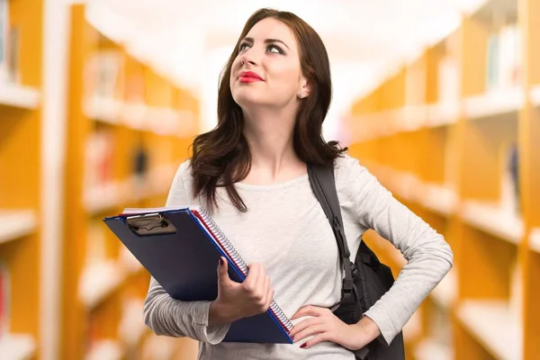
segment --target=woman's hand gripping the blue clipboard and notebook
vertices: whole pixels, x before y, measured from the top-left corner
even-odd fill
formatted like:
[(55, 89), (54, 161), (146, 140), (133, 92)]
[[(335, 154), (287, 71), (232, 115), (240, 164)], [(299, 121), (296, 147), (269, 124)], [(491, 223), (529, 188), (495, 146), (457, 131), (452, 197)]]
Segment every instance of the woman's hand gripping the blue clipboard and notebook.
[(248, 266), (243, 283), (232, 281), (227, 260), (220, 257), (218, 266), (218, 297), (211, 302), (209, 324), (230, 323), (265, 312), (274, 299), (274, 288), (259, 263)]

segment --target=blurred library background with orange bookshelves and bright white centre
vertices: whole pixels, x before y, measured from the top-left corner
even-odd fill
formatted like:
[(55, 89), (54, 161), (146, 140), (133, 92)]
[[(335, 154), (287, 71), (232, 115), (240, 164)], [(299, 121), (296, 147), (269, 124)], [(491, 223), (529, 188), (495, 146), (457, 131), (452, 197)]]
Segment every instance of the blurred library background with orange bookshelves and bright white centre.
[(148, 273), (102, 220), (165, 205), (260, 7), (320, 33), (326, 139), (455, 252), (407, 359), (540, 359), (540, 0), (0, 0), (0, 359), (196, 358), (145, 327)]

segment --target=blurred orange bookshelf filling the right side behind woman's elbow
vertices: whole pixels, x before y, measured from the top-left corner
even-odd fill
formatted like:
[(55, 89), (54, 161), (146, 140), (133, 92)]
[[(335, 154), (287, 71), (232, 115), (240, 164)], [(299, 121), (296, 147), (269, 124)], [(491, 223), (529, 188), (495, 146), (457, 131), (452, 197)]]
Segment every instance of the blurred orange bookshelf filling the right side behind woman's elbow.
[[(455, 252), (408, 358), (540, 354), (539, 37), (540, 3), (486, 1), (350, 109), (351, 153)], [(398, 274), (401, 254), (366, 241)]]

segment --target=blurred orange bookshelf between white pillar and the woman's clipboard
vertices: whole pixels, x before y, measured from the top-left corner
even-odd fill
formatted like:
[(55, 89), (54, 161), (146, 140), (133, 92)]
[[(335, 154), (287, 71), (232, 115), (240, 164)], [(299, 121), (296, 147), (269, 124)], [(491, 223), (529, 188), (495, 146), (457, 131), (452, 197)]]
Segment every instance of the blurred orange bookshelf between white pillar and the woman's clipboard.
[[(145, 357), (160, 350), (142, 318), (149, 275), (103, 218), (165, 205), (199, 104), (94, 27), (85, 4), (70, 9), (61, 357), (156, 358)], [(169, 347), (177, 356), (196, 345)]]

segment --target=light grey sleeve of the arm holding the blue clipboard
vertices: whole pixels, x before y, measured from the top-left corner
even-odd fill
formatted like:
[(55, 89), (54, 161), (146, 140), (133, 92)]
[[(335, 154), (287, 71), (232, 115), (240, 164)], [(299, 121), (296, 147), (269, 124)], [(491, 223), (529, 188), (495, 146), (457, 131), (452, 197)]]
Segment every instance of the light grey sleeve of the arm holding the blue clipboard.
[[(184, 186), (188, 175), (184, 162), (176, 172), (166, 200), (166, 206), (191, 204), (193, 199)], [(216, 264), (217, 266), (217, 264)], [(151, 278), (144, 302), (144, 320), (157, 335), (188, 337), (211, 344), (219, 343), (229, 329), (229, 324), (209, 325), (210, 302), (180, 302), (169, 296), (163, 287)]]

